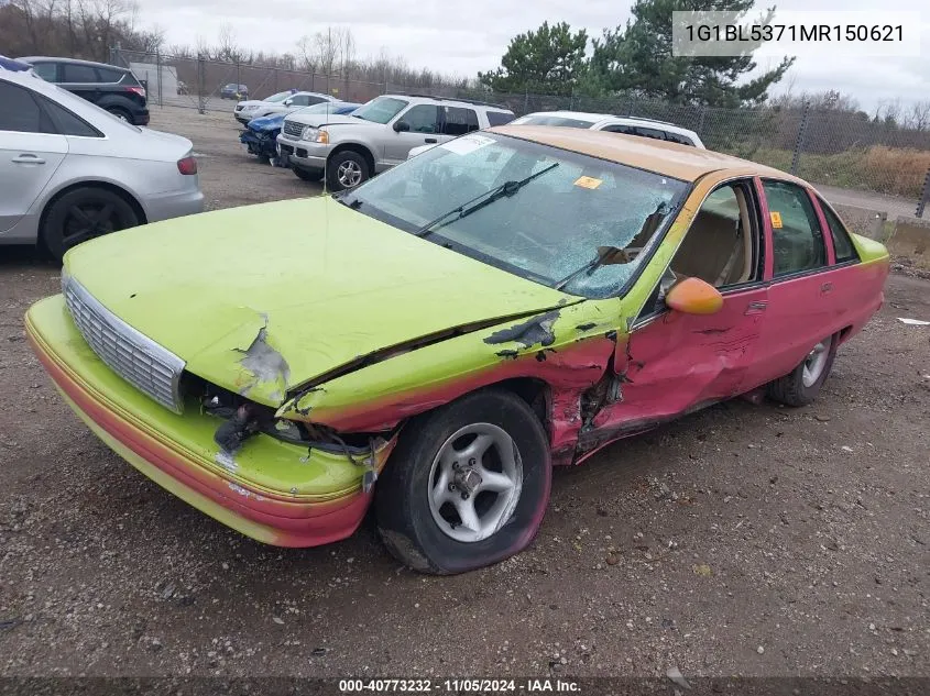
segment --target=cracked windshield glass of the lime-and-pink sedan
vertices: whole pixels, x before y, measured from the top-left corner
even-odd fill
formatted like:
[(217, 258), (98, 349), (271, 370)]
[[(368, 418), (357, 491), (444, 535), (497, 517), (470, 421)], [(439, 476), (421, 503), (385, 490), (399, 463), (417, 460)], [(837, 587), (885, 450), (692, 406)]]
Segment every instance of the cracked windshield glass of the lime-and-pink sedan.
[[(536, 239), (528, 239), (528, 242), (530, 245), (538, 243), (538, 241), (545, 243), (546, 234), (548, 234), (549, 253), (559, 257), (558, 259), (551, 261), (545, 258), (540, 261), (538, 254), (533, 254), (532, 246), (521, 245), (522, 241), (518, 237), (525, 237), (527, 230), (521, 229), (519, 225), (510, 227), (508, 223), (504, 223), (504, 227), (501, 229), (506, 229), (508, 234), (514, 236), (507, 237), (507, 241), (500, 244), (493, 237), (493, 231), (490, 234), (478, 233), (479, 235), (475, 236), (474, 230), (468, 227), (461, 228), (460, 225), (449, 228), (451, 233), (445, 230), (440, 232), (438, 229), (433, 229), (429, 234), (425, 235), (426, 241), (445, 248), (455, 250), (490, 266), (497, 267), (549, 288), (560, 289), (570, 295), (598, 299), (620, 297), (628, 292), (632, 285), (641, 276), (643, 269), (650, 263), (655, 250), (661, 243), (668, 229), (679, 214), (685, 200), (687, 200), (687, 197), (693, 189), (693, 185), (690, 181), (643, 167), (619, 163), (613, 159), (559, 148), (511, 134), (504, 135), (503, 133), (491, 132), (480, 134), (480, 137), (484, 140), (488, 140), (489, 136), (490, 140), (497, 141), (503, 145), (511, 145), (512, 142), (525, 143), (527, 146), (535, 148), (532, 155), (538, 157), (540, 164), (546, 164), (551, 162), (551, 159), (558, 159), (562, 164), (566, 164), (568, 166), (566, 173), (551, 183), (551, 186), (556, 187), (552, 189), (554, 191), (562, 191), (556, 194), (557, 196), (566, 194), (564, 188), (566, 180), (564, 179), (567, 179), (568, 183), (575, 183), (576, 186), (584, 187), (586, 181), (572, 181), (572, 178), (577, 176), (573, 174), (573, 170), (577, 170), (579, 167), (586, 169), (587, 167), (595, 166), (590, 161), (604, 163), (602, 172), (608, 177), (605, 179), (608, 186), (604, 190), (609, 191), (608, 196), (610, 198), (603, 199), (602, 203), (595, 203), (595, 207), (592, 209), (594, 212), (590, 218), (590, 229), (582, 233), (590, 239), (577, 237), (575, 241), (565, 244), (559, 242), (551, 243), (554, 239), (558, 239), (559, 230), (567, 230), (569, 228), (565, 227), (565, 222), (555, 220), (550, 227), (545, 228), (544, 225), (544, 228), (540, 228), (543, 229), (543, 234), (538, 236), (530, 234), (530, 236), (535, 236)], [(452, 142), (455, 143), (456, 141)], [(440, 146), (435, 150), (439, 151), (440, 148), (450, 150), (448, 146), (445, 148)], [(548, 155), (547, 151), (551, 151), (552, 154)], [(424, 153), (419, 157), (425, 155), (428, 155), (428, 153)], [(439, 154), (436, 158), (441, 156), (444, 155)], [(419, 157), (405, 163), (404, 166), (394, 172), (407, 170), (407, 168), (414, 166), (413, 163), (419, 159)], [(624, 174), (625, 172), (631, 174)], [(501, 173), (499, 172), (499, 174)], [(502, 174), (502, 176), (506, 175)], [(386, 181), (384, 175), (380, 178), (382, 183)], [(587, 176), (582, 174), (581, 179), (587, 179)], [(592, 188), (597, 188), (599, 184)], [(401, 181), (397, 181), (396, 185), (401, 185)], [(381, 192), (381, 188), (376, 189), (378, 192), (373, 192), (372, 196), (366, 197), (365, 189), (370, 187), (372, 187), (372, 184), (369, 183), (354, 189), (351, 194), (343, 194), (340, 197), (340, 202), (366, 217), (380, 220), (411, 234), (415, 234), (417, 231), (422, 231), (424, 227), (429, 227), (430, 222), (435, 222), (434, 218), (436, 216), (424, 219), (422, 209), (416, 207), (411, 208), (409, 206), (413, 203), (404, 203), (405, 197), (403, 195), (400, 199), (391, 200), (390, 205), (389, 199)], [(630, 195), (626, 192), (626, 189), (631, 187), (634, 198), (630, 198)], [(496, 189), (500, 189), (500, 186)], [(470, 206), (473, 207), (475, 205), (474, 201), (485, 198), (488, 195), (493, 194), (494, 190), (491, 189), (479, 196), (470, 197), (471, 200), (467, 200), (457, 208), (448, 210), (446, 214), (440, 216), (440, 219), (455, 216), (458, 209), (463, 210)], [(573, 190), (569, 187), (568, 195), (572, 196), (573, 194), (571, 191)], [(547, 191), (538, 191), (538, 194), (543, 196), (548, 195)], [(518, 196), (514, 197), (514, 199), (518, 198)], [(415, 200), (409, 197), (409, 194), (406, 199), (409, 201)], [(647, 236), (644, 235), (645, 225), (649, 218), (656, 217), (657, 208), (656, 202), (652, 202), (650, 207), (645, 209), (644, 201), (646, 199), (649, 201), (665, 200), (664, 214), (658, 220), (653, 221), (653, 227), (647, 233)], [(616, 219), (613, 216), (614, 208), (612, 206), (614, 201), (616, 203), (616, 210), (623, 213)], [(408, 207), (404, 208), (405, 205)], [(572, 205), (583, 207), (587, 203), (576, 199)], [(513, 210), (514, 212), (504, 211), (502, 214), (516, 214), (515, 209)], [(481, 227), (485, 223), (482, 219), (475, 224)], [(482, 234), (484, 235), (482, 236)], [(622, 254), (611, 253), (606, 255), (604, 261), (598, 263), (598, 266), (602, 266), (601, 268), (594, 268), (591, 274), (583, 273), (591, 264), (598, 262), (602, 250), (610, 246), (611, 242), (604, 242), (604, 237), (614, 240), (614, 244), (621, 247), (619, 252), (628, 250), (628, 261), (617, 261), (622, 257)], [(587, 246), (589, 241), (591, 245)], [(613, 269), (608, 270), (606, 268)], [(565, 280), (568, 276), (571, 276), (573, 279), (566, 284)]]

